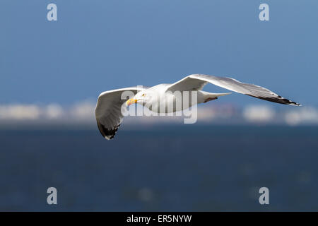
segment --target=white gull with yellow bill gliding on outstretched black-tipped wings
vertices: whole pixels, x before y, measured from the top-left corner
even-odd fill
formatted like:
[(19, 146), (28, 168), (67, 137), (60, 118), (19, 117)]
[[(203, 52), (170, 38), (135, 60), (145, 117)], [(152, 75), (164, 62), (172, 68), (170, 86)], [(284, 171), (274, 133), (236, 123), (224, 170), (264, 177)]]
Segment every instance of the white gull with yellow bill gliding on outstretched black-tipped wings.
[[(196, 103), (208, 102), (210, 100), (216, 100), (220, 96), (228, 95), (230, 93), (208, 93), (202, 91), (204, 85), (207, 83), (212, 83), (213, 85), (218, 85), (227, 90), (231, 90), (236, 93), (242, 93), (245, 95), (249, 95), (251, 97), (257, 97), (261, 100), (267, 100), (271, 102), (276, 102), (283, 105), (293, 105), (300, 106), (300, 104), (290, 101), (273, 93), (271, 90), (263, 88), (259, 85), (253, 85), (248, 83), (241, 83), (240, 81), (235, 80), (234, 78), (227, 77), (218, 77), (218, 76), (208, 76), (203, 74), (193, 74), (182, 78), (182, 80), (177, 81), (172, 84), (160, 84), (155, 85), (151, 88), (145, 87), (129, 87), (122, 88), (117, 90), (109, 90), (103, 92), (98, 97), (98, 102), (95, 109), (95, 117), (98, 124), (98, 129), (102, 136), (107, 140), (114, 138), (115, 133), (117, 132), (118, 127), (122, 123), (122, 119), (124, 115), (122, 114), (122, 106), (126, 104), (129, 106), (131, 104), (141, 104), (145, 107), (148, 107), (153, 112), (159, 112), (160, 103), (158, 100), (160, 98), (165, 99), (166, 97), (172, 101), (172, 105), (175, 106), (176, 102), (179, 98), (184, 98), (184, 95), (175, 95), (175, 92), (184, 93), (196, 91), (197, 92), (197, 100)], [(134, 93), (134, 97), (129, 100), (122, 99), (122, 93), (125, 91), (130, 91)], [(159, 97), (159, 99), (158, 99)], [(161, 99), (160, 99), (161, 100)], [(189, 97), (189, 105), (182, 105), (182, 109), (184, 110), (189, 107), (192, 107), (192, 100)], [(157, 107), (149, 107), (149, 106), (157, 106)], [(176, 112), (177, 109), (173, 107), (170, 110), (167, 110), (167, 107), (164, 108), (165, 113), (167, 112)]]

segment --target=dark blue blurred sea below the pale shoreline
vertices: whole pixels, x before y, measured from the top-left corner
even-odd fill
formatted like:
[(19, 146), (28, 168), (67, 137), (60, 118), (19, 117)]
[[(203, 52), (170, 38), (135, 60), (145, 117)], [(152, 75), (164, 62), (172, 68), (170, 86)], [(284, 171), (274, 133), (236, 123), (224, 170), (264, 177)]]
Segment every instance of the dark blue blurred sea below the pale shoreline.
[(318, 210), (317, 126), (136, 127), (2, 129), (0, 210)]

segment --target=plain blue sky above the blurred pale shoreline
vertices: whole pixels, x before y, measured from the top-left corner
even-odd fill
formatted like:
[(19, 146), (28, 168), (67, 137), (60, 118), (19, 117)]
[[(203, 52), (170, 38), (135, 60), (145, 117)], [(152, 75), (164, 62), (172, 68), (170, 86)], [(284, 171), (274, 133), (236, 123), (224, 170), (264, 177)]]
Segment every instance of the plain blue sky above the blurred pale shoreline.
[[(261, 3), (270, 21), (259, 20)], [(317, 106), (317, 9), (310, 0), (1, 0), (0, 103), (67, 105), (206, 73)]]

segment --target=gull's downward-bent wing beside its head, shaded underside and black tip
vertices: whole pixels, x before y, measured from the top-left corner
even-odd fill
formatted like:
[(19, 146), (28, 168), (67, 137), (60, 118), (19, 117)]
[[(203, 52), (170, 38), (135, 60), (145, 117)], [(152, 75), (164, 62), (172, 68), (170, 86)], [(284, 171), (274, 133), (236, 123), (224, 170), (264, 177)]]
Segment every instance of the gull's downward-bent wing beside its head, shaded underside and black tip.
[[(95, 117), (98, 129), (103, 137), (107, 140), (114, 138), (118, 127), (122, 123), (122, 118), (124, 117), (122, 115), (122, 105), (126, 102), (126, 99), (122, 100), (122, 94), (125, 91), (130, 91), (131, 95), (136, 95), (136, 93), (144, 89), (141, 87), (129, 87), (100, 94), (95, 109)], [(129, 92), (126, 94), (129, 95)]]

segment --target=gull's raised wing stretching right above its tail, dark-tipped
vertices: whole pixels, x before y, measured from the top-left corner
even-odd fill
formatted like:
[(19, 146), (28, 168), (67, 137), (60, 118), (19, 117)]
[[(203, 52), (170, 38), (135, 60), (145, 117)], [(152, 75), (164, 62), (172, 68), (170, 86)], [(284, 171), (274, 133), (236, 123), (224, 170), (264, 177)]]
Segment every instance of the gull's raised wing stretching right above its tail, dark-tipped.
[(249, 95), (251, 97), (257, 97), (261, 100), (268, 100), (271, 102), (280, 103), (283, 105), (295, 105), (300, 106), (300, 104), (287, 100), (271, 90), (268, 90), (259, 85), (253, 85), (248, 83), (241, 83), (234, 78), (217, 77), (217, 76), (207, 76), (203, 74), (193, 74), (183, 78), (177, 83), (173, 83), (167, 88), (167, 91), (175, 92), (176, 90), (201, 90), (206, 83), (212, 83), (213, 85), (218, 85), (227, 90), (232, 90), (237, 93), (242, 93)]

